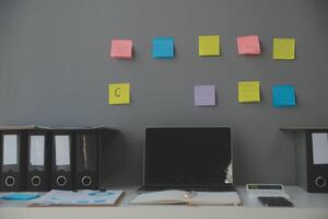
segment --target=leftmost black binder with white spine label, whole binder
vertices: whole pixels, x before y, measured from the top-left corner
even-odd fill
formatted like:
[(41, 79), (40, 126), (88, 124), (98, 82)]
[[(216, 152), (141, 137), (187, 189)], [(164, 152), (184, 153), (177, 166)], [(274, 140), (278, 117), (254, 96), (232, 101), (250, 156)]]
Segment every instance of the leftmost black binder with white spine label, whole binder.
[(0, 189), (17, 192), (25, 189), (26, 135), (21, 130), (1, 131)]

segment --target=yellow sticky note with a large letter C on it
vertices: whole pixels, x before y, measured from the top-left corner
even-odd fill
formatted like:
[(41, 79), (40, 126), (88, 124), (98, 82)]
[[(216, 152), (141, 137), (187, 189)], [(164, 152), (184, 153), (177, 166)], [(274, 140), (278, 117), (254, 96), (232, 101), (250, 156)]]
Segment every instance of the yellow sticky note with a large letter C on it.
[(109, 105), (130, 104), (130, 83), (108, 84)]

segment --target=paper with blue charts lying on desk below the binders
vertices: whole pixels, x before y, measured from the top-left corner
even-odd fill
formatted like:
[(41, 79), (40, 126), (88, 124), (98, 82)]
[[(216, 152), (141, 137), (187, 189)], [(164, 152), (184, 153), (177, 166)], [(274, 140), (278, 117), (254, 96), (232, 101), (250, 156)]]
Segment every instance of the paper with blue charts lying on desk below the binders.
[(50, 191), (31, 203), (33, 206), (112, 206), (122, 194), (124, 191)]

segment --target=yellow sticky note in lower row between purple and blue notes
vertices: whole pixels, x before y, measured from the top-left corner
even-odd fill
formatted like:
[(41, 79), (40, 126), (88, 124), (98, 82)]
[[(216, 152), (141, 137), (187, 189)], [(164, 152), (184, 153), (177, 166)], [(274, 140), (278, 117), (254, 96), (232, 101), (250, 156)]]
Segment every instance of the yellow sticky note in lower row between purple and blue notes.
[(238, 102), (239, 103), (260, 102), (259, 81), (239, 81)]

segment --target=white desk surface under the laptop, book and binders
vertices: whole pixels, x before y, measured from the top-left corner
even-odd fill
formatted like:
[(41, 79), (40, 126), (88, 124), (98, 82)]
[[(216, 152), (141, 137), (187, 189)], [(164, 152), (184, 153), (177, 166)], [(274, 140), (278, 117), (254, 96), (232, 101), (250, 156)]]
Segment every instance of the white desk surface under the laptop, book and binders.
[(288, 186), (293, 208), (262, 207), (237, 187), (243, 206), (131, 206), (134, 189), (127, 189), (118, 207), (26, 207), (26, 203), (0, 201), (0, 219), (328, 219), (328, 194), (308, 194)]

